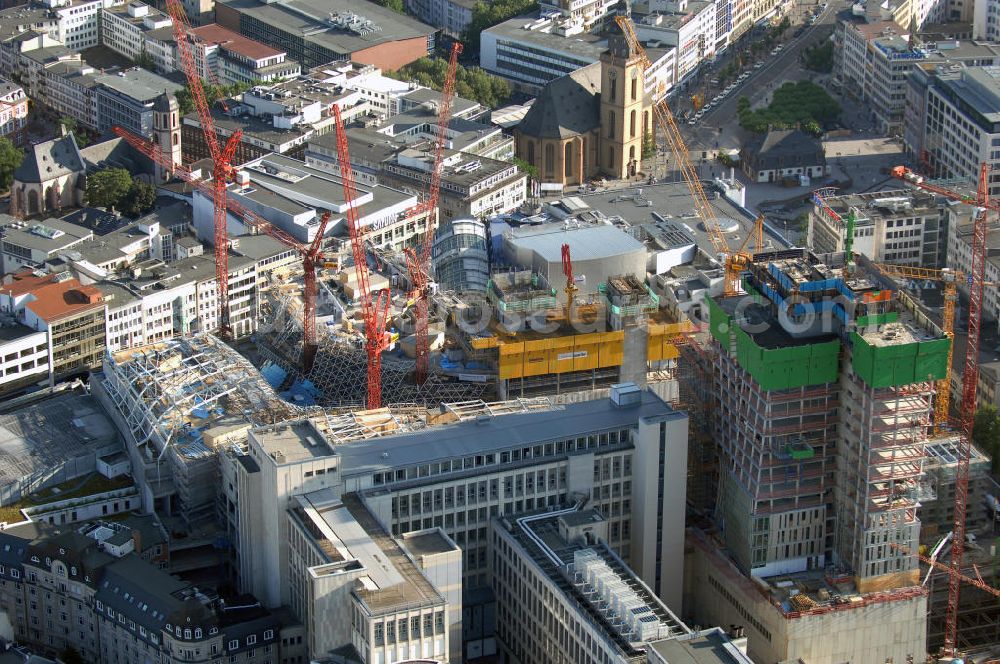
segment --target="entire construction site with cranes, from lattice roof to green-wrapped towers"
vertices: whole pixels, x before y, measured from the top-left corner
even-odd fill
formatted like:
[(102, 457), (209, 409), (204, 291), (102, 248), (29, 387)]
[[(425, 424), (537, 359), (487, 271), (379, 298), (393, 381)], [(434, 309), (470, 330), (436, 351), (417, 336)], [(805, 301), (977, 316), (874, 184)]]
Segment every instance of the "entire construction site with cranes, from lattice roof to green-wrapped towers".
[[(630, 19), (616, 21), (629, 57), (649, 67)], [(200, 91), (193, 56), (178, 34), (185, 73)], [(832, 232), (843, 232), (837, 244), (843, 251), (817, 255), (766, 245), (762, 218), (744, 229), (706, 194), (660, 102), (653, 105), (656, 126), (683, 176), (683, 211), (646, 210), (625, 219), (578, 197), (533, 205), (495, 229), (477, 231), (485, 237), (468, 243), (476, 254), (467, 267), (454, 262), (464, 241), (456, 240), (453, 223), (443, 234), (451, 243), (449, 270), (469, 275), (453, 279), (466, 286), (443, 289), (435, 281), (433, 250), (460, 52), (456, 43), (438, 105), (427, 191), (388, 222), (409, 224), (406, 247), (379, 246), (372, 222), (362, 223), (337, 105), (344, 205), (340, 218), (315, 210), (315, 219), (307, 220), (315, 230), (307, 232), (308, 242), (229, 195), (247, 178), (230, 163), (229, 146), (219, 144), (203, 94), (195, 98), (214, 162), (211, 181), (164, 161), (143, 139), (125, 136), (214, 203), (219, 275), (218, 337), (200, 334), (108, 354), (95, 381), (95, 396), (128, 432), (146, 509), (165, 515), (169, 529), (184, 533), (192, 548), (210, 544), (204, 524), (218, 517), (220, 452), (242, 444), (253, 427), (318, 415), (333, 439), (367, 437), (381, 435), (383, 424), (398, 424), (400, 413), (419, 421), (436, 409), (463, 419), (455, 411), (462, 404), (478, 413), (489, 401), (510, 400), (518, 408), (534, 407), (535, 399), (583, 402), (607, 397), (612, 385), (634, 383), (691, 413), (686, 619), (742, 630), (750, 656), (768, 662), (919, 662), (930, 647), (940, 646), (950, 658), (981, 639), (995, 640), (1000, 621), (985, 608), (996, 591), (987, 590), (973, 563), (985, 559), (963, 559), (966, 548), (976, 548), (966, 546), (973, 541), (966, 517), (975, 495), (975, 381), (963, 385), (960, 417), (951, 424), (957, 275), (936, 271), (952, 284), (938, 322), (894, 281), (906, 274), (854, 255), (853, 214), (830, 217), (837, 227)], [(988, 205), (982, 182), (973, 198), (905, 169), (894, 175), (936, 195), (997, 209)], [(302, 180), (289, 176), (287, 189)], [(650, 203), (641, 189), (615, 198), (616, 204), (630, 200), (637, 208)], [(231, 337), (223, 306), (230, 216), (302, 257), (301, 272), (261, 288), (260, 324), (243, 355), (224, 341)], [(684, 219), (704, 229), (710, 246), (698, 246)], [(476, 224), (462, 226), (471, 231)], [(334, 228), (347, 237), (327, 233)], [(966, 375), (977, 372), (985, 255), (979, 232), (968, 275)], [(649, 285), (675, 267), (687, 271), (674, 277), (694, 283), (695, 257), (707, 268), (691, 313), (707, 311), (707, 333)], [(931, 502), (932, 493), (939, 501), (933, 539), (921, 528), (921, 500)], [(945, 496), (953, 497), (950, 511), (942, 509)], [(938, 563), (945, 554), (949, 562)], [(922, 561), (944, 571), (925, 575)], [(979, 615), (985, 617), (973, 624)]]

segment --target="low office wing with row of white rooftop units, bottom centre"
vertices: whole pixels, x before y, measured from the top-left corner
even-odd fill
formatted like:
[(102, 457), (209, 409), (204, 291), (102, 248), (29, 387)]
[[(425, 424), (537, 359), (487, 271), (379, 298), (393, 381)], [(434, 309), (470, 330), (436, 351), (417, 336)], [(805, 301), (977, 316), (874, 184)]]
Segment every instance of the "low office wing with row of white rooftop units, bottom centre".
[(497, 638), (506, 657), (749, 664), (721, 630), (698, 633), (681, 622), (607, 538), (607, 520), (580, 504), (493, 520)]

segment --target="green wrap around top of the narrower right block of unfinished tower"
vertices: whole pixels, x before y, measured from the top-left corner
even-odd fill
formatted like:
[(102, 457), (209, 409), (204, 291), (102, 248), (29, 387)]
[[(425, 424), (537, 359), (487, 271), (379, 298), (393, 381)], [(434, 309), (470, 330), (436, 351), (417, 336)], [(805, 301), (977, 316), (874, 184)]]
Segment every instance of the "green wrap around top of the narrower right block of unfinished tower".
[(909, 385), (928, 378), (941, 380), (947, 372), (949, 339), (872, 346), (857, 332), (851, 332), (851, 343), (854, 373), (872, 387)]

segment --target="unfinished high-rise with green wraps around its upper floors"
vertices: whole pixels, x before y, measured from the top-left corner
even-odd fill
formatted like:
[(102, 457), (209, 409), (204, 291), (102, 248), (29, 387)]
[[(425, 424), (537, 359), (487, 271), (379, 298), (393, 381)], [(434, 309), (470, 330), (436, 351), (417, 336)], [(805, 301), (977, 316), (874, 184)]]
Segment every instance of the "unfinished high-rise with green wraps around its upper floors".
[[(950, 341), (865, 259), (849, 268), (842, 254), (756, 254), (745, 294), (709, 302), (720, 454), (710, 560), (727, 562), (704, 570), (696, 604), (745, 625), (755, 660), (903, 662), (925, 652), (917, 509)], [(734, 573), (782, 619), (736, 620), (753, 601), (720, 590)], [(863, 610), (844, 612), (854, 605)], [(822, 615), (854, 635), (834, 638)]]

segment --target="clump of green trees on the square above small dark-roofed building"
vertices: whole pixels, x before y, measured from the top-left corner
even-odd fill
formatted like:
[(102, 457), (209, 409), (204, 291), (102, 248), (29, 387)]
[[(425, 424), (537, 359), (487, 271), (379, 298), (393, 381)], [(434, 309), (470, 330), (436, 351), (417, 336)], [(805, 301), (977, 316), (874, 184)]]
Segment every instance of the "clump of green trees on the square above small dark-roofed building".
[(819, 136), (824, 126), (840, 117), (840, 104), (815, 83), (799, 81), (782, 85), (774, 91), (771, 103), (757, 110), (750, 108), (747, 97), (740, 97), (736, 113), (740, 126), (755, 134), (769, 129), (799, 128)]

